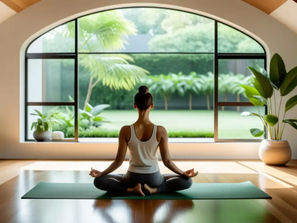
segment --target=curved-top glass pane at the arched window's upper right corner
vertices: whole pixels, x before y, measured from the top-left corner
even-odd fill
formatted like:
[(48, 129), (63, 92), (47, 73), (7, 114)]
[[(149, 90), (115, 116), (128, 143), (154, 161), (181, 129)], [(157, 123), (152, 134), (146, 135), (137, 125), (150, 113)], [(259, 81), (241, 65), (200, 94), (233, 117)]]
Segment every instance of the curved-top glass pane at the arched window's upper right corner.
[(219, 53), (265, 53), (262, 46), (248, 35), (218, 23)]

